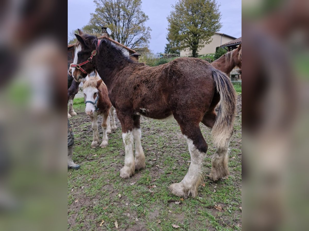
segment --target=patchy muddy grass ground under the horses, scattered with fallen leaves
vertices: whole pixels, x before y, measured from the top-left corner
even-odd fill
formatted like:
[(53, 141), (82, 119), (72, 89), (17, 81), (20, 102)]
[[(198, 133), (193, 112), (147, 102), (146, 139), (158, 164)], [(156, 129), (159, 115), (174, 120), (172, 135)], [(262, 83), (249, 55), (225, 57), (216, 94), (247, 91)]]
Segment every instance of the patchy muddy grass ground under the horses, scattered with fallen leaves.
[(174, 230), (173, 224), (180, 226), (177, 230), (241, 229), (241, 95), (230, 144), (231, 175), (215, 183), (207, 177), (215, 147), (210, 129), (201, 124), (208, 143), (205, 182), (196, 198), (183, 201), (168, 190), (170, 184), (183, 179), (190, 161), (175, 120), (141, 120), (146, 168), (124, 180), (119, 176), (125, 155), (119, 120), (116, 132), (109, 135), (108, 147), (91, 149), (91, 121), (85, 115), (83, 98), (74, 99), (74, 110), (78, 115), (70, 119), (75, 134), (73, 160), (81, 168), (68, 170), (68, 230), (115, 230), (115, 221), (118, 230), (127, 231)]

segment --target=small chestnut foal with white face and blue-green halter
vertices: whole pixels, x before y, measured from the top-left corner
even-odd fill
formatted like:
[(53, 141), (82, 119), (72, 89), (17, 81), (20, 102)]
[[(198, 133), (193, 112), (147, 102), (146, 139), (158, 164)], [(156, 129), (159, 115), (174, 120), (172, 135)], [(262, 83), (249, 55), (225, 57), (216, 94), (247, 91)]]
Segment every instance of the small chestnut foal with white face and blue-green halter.
[[(102, 115), (103, 119), (101, 124), (103, 139), (100, 147), (105, 148), (108, 145), (107, 134), (112, 133), (112, 130), (116, 130), (117, 128), (115, 123), (115, 108), (108, 99), (107, 87), (102, 79), (90, 77), (83, 84), (83, 93), (86, 103), (85, 112), (91, 118), (91, 127), (93, 131), (91, 148), (98, 147), (100, 143), (98, 132), (98, 115)], [(110, 124), (109, 111), (111, 111), (112, 115), (112, 127)]]

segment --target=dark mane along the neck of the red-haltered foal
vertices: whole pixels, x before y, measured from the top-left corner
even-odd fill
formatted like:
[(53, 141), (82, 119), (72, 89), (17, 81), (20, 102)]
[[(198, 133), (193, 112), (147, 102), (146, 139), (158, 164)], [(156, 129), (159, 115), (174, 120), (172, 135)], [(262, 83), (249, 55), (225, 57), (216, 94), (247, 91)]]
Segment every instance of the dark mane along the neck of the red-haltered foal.
[[(97, 46), (97, 44), (98, 44), (98, 37), (97, 36), (89, 35), (89, 34), (83, 34), (82, 36), (85, 39), (85, 41), (89, 40), (89, 41), (91, 41), (92, 45)], [(111, 48), (110, 51), (112, 51), (113, 56), (115, 56), (115, 57), (121, 56), (126, 61), (128, 61), (130, 63), (135, 63), (132, 59), (130, 59), (127, 55), (124, 54), (124, 51), (120, 47), (117, 47), (114, 43), (112, 43), (107, 38), (101, 39), (101, 43), (98, 47), (98, 54), (100, 52), (101, 46), (103, 46), (102, 45), (103, 43), (105, 43), (108, 48)]]

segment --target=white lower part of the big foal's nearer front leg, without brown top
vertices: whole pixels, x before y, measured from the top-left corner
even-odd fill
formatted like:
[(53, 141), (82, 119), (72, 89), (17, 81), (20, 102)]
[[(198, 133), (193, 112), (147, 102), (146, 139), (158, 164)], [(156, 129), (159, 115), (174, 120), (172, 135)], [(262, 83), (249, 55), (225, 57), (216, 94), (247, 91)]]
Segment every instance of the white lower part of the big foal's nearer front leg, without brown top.
[(129, 178), (135, 173), (132, 132), (122, 133), (122, 139), (125, 145), (125, 166), (120, 170), (120, 177)]

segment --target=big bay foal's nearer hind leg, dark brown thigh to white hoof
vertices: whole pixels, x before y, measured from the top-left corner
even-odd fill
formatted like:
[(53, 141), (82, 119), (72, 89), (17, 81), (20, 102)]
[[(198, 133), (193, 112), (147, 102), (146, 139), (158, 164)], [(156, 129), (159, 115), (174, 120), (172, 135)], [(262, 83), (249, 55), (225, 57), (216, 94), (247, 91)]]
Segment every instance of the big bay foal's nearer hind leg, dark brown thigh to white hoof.
[(174, 117), (180, 125), (181, 132), (187, 140), (191, 155), (191, 163), (184, 179), (180, 183), (171, 184), (169, 188), (171, 192), (178, 197), (196, 197), (198, 186), (204, 178), (202, 164), (208, 146), (203, 138), (198, 123), (189, 124), (188, 121), (190, 120), (184, 122), (179, 121), (178, 116), (174, 115)]

